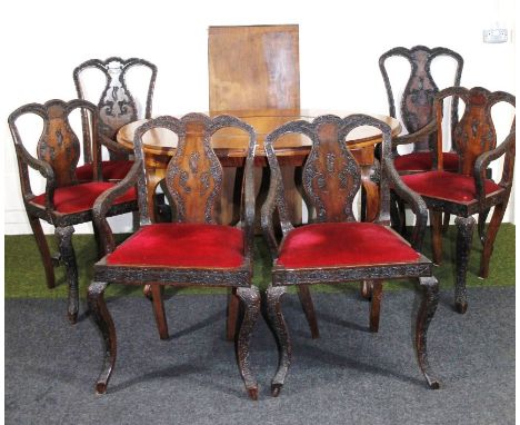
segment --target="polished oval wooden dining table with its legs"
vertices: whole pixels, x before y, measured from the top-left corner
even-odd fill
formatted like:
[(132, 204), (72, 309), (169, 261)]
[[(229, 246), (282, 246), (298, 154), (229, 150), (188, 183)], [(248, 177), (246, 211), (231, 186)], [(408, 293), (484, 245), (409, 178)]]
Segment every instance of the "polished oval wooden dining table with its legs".
[[(263, 141), (266, 137), (279, 126), (292, 120), (312, 121), (321, 115), (336, 115), (341, 118), (352, 115), (352, 111), (341, 110), (323, 110), (323, 109), (261, 109), (261, 110), (222, 110), (208, 112), (210, 117), (219, 115), (231, 115), (250, 123), (257, 132), (257, 149), (254, 155), (256, 167), (268, 167)], [(399, 135), (401, 125), (396, 118), (384, 115), (372, 115), (372, 117), (388, 123), (391, 128), (392, 136)], [(128, 149), (133, 150), (133, 137), (137, 128), (147, 120), (141, 119), (123, 126), (117, 135), (117, 141)], [(202, 137), (201, 134), (188, 131), (189, 137)], [(217, 131), (212, 136), (212, 147), (219, 157), (222, 167), (231, 167), (240, 169), (246, 160), (248, 136), (243, 130), (226, 128)], [(381, 142), (381, 132), (374, 127), (358, 127), (347, 136), (347, 145), (361, 168), (361, 184), (367, 194), (366, 219), (372, 220), (376, 218), (379, 210), (379, 189), (378, 185), (372, 181), (374, 171), (374, 151), (376, 146)], [(292, 192), (289, 209), (293, 211), (294, 221), (301, 220), (301, 199), (302, 189), (294, 182), (294, 170), (304, 164), (307, 156), (310, 152), (312, 141), (302, 135), (284, 135), (274, 145), (277, 159), (282, 168), (282, 172), (287, 175), (284, 178), (286, 192)], [(168, 162), (176, 152), (177, 135), (164, 128), (154, 128), (147, 131), (142, 137), (142, 146), (144, 154), (144, 167), (147, 171), (147, 202), (151, 217), (156, 217), (154, 196), (157, 186), (164, 179)], [(260, 176), (261, 176), (260, 171)], [(263, 174), (266, 176), (266, 174)], [(261, 180), (261, 179), (259, 179)], [(266, 178), (263, 178), (266, 181)], [(297, 179), (298, 181), (298, 179)], [(228, 188), (226, 188), (228, 186)], [(264, 185), (257, 184), (257, 190), (262, 189)], [(233, 205), (237, 205), (237, 195), (232, 194), (233, 178), (224, 181), (222, 190), (221, 214), (226, 216), (223, 221), (232, 219), (236, 216)], [(257, 202), (260, 204), (260, 202)], [(261, 206), (261, 205), (260, 205)], [(237, 208), (236, 208), (237, 209)], [(157, 217), (156, 217), (157, 218)]]

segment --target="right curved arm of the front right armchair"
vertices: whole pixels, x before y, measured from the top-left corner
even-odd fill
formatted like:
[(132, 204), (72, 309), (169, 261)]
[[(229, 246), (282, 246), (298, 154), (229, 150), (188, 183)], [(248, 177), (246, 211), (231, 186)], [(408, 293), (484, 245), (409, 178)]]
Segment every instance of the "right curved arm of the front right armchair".
[(422, 240), (424, 238), (428, 221), (428, 207), (420, 195), (404, 185), (399, 172), (393, 166), (392, 159), (390, 157), (384, 157), (383, 161), (388, 172), (390, 187), (402, 200), (410, 205), (413, 214), (416, 215), (416, 226), (413, 226), (410, 243), (413, 249), (420, 251), (422, 249)]

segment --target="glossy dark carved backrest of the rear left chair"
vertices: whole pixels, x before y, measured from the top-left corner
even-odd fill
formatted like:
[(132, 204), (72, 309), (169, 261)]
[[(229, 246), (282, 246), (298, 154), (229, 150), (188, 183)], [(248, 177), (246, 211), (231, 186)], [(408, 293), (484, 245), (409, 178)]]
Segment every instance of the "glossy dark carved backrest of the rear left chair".
[[(150, 80), (148, 85), (148, 93), (144, 105), (144, 117), (151, 117), (153, 88), (156, 86), (157, 67), (144, 59), (130, 58), (121, 59), (117, 57), (108, 58), (107, 60), (90, 59), (79, 65), (73, 70), (72, 77), (74, 79), (76, 90), (80, 99), (84, 99), (84, 88), (81, 81), (81, 73), (89, 68), (100, 70), (106, 77), (106, 85), (98, 101), (100, 132), (111, 140), (116, 139), (118, 130), (139, 118), (138, 105), (131, 93), (126, 76), (127, 72), (133, 67), (146, 67), (150, 69)], [(88, 126), (83, 119), (83, 131), (88, 131)], [(88, 137), (86, 137), (88, 139)], [(86, 146), (84, 161), (90, 162), (89, 147)]]

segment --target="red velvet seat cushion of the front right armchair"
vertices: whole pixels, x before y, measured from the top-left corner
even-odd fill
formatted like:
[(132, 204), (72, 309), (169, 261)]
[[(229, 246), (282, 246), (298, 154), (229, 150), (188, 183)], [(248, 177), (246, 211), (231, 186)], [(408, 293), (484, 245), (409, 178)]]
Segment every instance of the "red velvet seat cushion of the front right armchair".
[(323, 223), (292, 230), (278, 264), (287, 268), (409, 263), (419, 258), (404, 240), (372, 223)]

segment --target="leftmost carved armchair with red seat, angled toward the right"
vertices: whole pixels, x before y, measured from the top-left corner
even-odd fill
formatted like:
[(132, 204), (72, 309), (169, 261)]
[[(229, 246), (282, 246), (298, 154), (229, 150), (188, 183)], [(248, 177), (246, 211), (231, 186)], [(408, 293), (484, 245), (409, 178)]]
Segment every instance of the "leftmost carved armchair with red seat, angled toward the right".
[[(91, 128), (87, 144), (92, 150), (92, 178), (79, 181), (77, 164), (80, 158), (80, 141), (69, 122), (69, 115), (81, 110), (89, 117)], [(37, 155), (28, 150), (22, 142), (17, 120), (21, 116), (36, 115), (43, 121), (43, 129), (37, 144)], [(78, 318), (78, 270), (72, 247), (73, 226), (92, 220), (92, 206), (96, 199), (114, 186), (101, 179), (101, 147), (98, 142), (98, 109), (86, 100), (49, 100), (47, 103), (29, 103), (14, 110), (8, 119), (17, 151), (20, 185), (23, 204), (29, 217), (32, 233), (46, 270), (47, 286), (53, 288), (54, 266), (62, 263), (69, 286), (68, 317), (73, 324)], [(29, 135), (27, 135), (29, 136)], [(46, 179), (43, 194), (34, 195), (31, 188), (29, 169), (38, 170)], [(114, 199), (107, 216), (129, 212), (137, 209), (137, 196), (129, 187)], [(50, 254), (40, 220), (56, 227), (59, 257)], [(94, 233), (97, 231), (94, 226)], [(100, 253), (102, 254), (102, 253)]]

